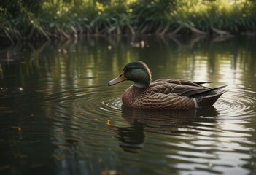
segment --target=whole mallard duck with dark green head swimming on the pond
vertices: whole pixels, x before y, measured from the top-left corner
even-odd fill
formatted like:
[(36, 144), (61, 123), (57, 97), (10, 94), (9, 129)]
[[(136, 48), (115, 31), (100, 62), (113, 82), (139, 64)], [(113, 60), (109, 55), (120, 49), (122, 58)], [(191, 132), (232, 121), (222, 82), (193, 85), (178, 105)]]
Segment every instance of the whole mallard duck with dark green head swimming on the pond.
[(139, 109), (195, 109), (212, 106), (228, 90), (207, 88), (202, 84), (182, 79), (158, 79), (152, 82), (150, 69), (142, 61), (125, 65), (122, 73), (109, 81), (109, 86), (125, 80), (133, 81), (122, 96), (125, 106)]

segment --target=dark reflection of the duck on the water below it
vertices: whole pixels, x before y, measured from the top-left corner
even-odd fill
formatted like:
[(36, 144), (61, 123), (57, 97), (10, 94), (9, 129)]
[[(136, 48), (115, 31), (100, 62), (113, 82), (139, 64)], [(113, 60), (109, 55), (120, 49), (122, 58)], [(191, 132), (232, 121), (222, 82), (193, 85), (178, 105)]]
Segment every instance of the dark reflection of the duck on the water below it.
[(122, 116), (128, 123), (131, 123), (131, 126), (117, 127), (117, 138), (123, 150), (139, 152), (144, 147), (144, 131), (165, 134), (195, 134), (198, 131), (191, 127), (203, 125), (202, 123), (215, 123), (217, 115), (213, 106), (187, 111), (145, 110), (122, 106)]

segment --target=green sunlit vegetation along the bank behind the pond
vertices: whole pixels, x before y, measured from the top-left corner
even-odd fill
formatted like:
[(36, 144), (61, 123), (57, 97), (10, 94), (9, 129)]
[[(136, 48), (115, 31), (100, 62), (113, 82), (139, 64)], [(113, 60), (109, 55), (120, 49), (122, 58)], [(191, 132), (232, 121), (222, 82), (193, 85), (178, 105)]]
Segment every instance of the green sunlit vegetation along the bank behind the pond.
[(0, 36), (255, 34), (255, 9), (254, 0), (1, 0)]

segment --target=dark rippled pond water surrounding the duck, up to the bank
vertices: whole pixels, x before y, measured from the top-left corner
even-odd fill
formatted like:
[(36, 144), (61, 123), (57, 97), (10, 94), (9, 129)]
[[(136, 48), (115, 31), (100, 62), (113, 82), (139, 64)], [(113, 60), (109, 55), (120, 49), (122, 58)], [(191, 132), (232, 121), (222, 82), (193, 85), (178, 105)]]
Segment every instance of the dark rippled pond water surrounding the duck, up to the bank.
[[(1, 44), (0, 174), (256, 174), (255, 45), (192, 36)], [(229, 91), (203, 109), (127, 109), (132, 82), (107, 82), (134, 60), (153, 80)]]

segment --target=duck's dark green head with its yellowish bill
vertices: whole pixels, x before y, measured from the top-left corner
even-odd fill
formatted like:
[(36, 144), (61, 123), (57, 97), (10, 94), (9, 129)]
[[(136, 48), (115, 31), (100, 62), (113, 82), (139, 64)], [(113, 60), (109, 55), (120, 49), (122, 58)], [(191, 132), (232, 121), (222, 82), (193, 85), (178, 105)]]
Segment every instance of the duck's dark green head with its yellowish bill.
[(109, 81), (109, 86), (125, 80), (133, 81), (134, 86), (138, 88), (147, 88), (151, 82), (150, 69), (142, 61), (132, 61), (125, 65), (118, 77)]

